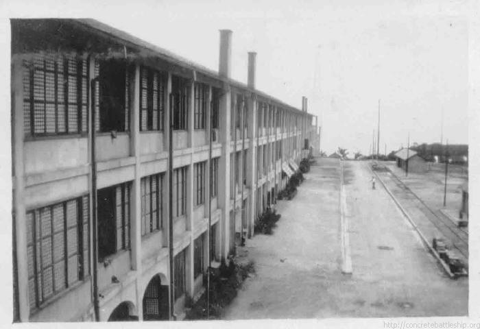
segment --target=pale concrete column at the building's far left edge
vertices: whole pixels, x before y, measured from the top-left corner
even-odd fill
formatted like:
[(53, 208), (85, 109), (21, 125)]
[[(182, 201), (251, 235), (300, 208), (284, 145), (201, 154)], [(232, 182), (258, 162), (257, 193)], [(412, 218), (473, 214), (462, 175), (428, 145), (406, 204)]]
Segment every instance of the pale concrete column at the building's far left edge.
[[(19, 313), (20, 321), (29, 321), (29, 288), (28, 288), (28, 265), (27, 265), (27, 222), (25, 220), (25, 204), (23, 195), (25, 189), (25, 167), (23, 164), (23, 143), (25, 132), (23, 130), (23, 65), (21, 58), (12, 58), (12, 129), (14, 132), (13, 147), (13, 207), (15, 219), (15, 242), (16, 245), (16, 273), (19, 289)], [(15, 292), (14, 292), (15, 293)]]

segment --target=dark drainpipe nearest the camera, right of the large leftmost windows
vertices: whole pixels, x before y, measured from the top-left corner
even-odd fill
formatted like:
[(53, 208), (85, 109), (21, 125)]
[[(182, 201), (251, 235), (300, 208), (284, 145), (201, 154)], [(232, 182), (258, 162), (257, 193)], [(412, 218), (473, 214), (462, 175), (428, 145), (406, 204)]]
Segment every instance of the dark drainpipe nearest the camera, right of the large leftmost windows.
[[(90, 62), (90, 61), (88, 61)], [(93, 233), (93, 310), (95, 313), (95, 321), (100, 321), (99, 312), (99, 296), (98, 296), (98, 224), (97, 224), (97, 161), (95, 160), (95, 86), (99, 82), (99, 77), (95, 77), (91, 80), (91, 162), (92, 162), (92, 233)]]

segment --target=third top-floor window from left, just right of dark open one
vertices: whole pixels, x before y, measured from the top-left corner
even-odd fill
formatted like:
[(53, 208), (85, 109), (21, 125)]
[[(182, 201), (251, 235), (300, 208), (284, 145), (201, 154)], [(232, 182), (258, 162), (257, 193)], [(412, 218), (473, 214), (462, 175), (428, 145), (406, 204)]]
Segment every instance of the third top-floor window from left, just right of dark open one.
[(140, 69), (140, 130), (163, 130), (165, 76), (141, 66)]

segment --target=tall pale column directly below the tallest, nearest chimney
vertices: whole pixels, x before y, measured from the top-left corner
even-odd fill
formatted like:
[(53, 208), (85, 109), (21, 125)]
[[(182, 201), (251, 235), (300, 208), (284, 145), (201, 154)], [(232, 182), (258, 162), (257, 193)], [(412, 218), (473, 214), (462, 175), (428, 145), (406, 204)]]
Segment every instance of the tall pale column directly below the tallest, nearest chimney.
[(219, 134), (221, 141), (221, 156), (218, 172), (218, 207), (221, 209), (219, 225), (221, 234), (221, 257), (228, 256), (230, 228), (230, 86), (225, 86), (219, 99)]

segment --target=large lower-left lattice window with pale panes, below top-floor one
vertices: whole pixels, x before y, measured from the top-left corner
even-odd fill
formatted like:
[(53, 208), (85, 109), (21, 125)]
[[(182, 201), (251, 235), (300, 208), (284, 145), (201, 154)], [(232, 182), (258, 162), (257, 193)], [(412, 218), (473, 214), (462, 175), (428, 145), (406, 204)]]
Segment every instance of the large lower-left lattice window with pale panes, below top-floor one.
[(30, 309), (90, 273), (88, 195), (27, 212)]

